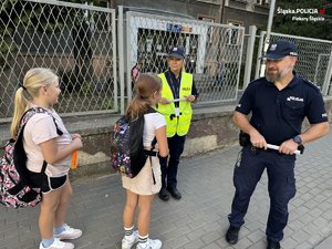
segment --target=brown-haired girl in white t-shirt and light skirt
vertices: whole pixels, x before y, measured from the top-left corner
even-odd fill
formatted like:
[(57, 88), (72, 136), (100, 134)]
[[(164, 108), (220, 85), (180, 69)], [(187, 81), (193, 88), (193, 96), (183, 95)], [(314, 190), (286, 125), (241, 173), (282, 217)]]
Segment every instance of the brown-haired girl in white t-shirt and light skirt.
[[(162, 157), (167, 157), (168, 145), (166, 137), (166, 121), (157, 112), (148, 113), (160, 100), (162, 81), (153, 74), (141, 74), (135, 84), (135, 96), (129, 103), (126, 115), (135, 121), (144, 115), (143, 144), (145, 149), (151, 149), (154, 137), (157, 139), (156, 152)], [(123, 214), (125, 236), (122, 249), (129, 249), (137, 243), (136, 249), (159, 249), (162, 241), (149, 239), (151, 206), (155, 194), (162, 187), (162, 172), (158, 156), (147, 159), (137, 176), (128, 178), (122, 176), (123, 187), (126, 189), (126, 204)], [(133, 162), (135, 164), (135, 162)], [(137, 228), (134, 231), (134, 215), (138, 207)]]

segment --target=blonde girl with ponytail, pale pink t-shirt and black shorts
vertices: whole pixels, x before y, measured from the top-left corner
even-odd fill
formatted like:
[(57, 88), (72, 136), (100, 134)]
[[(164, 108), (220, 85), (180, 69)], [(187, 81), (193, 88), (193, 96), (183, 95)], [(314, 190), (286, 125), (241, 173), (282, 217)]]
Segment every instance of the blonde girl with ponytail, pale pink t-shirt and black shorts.
[[(14, 138), (19, 131), (20, 120), (29, 108), (43, 108), (37, 112), (27, 123), (23, 131), (23, 146), (27, 154), (27, 168), (40, 173), (43, 162), (46, 169), (41, 181), (42, 201), (40, 205), (39, 229), (42, 240), (40, 249), (73, 249), (74, 245), (62, 239), (81, 237), (80, 229), (65, 224), (72, 187), (68, 173), (71, 166), (72, 153), (81, 148), (79, 134), (70, 134), (61, 117), (54, 111), (61, 93), (59, 77), (49, 69), (31, 69), (27, 72), (23, 84), (17, 90), (14, 113), (11, 124), (11, 136)], [(54, 125), (54, 122), (56, 125)], [(56, 126), (62, 132), (58, 135)], [(39, 178), (40, 180), (40, 178)]]

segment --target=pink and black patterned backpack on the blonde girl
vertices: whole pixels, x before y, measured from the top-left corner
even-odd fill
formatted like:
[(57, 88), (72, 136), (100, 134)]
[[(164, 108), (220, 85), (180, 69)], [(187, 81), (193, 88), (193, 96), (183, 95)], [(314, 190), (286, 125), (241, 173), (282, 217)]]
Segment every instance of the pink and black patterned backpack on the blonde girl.
[[(24, 127), (35, 113), (48, 113), (52, 116), (51, 113), (42, 107), (28, 110), (22, 115), (15, 139), (11, 138), (6, 143), (4, 155), (0, 158), (0, 203), (7, 207), (34, 207), (41, 201), (41, 186), (35, 183), (41, 183), (48, 163), (43, 162), (40, 173), (30, 172), (27, 168), (27, 154), (23, 147)], [(58, 135), (62, 135), (55, 121), (54, 124)], [(32, 176), (33, 183), (31, 180)]]

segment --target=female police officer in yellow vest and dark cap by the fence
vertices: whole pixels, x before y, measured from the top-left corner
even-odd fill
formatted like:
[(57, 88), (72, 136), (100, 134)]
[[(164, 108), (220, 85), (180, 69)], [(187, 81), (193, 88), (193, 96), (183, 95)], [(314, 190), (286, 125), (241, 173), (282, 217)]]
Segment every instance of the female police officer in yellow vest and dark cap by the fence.
[[(177, 168), (190, 127), (191, 102), (195, 102), (198, 96), (193, 74), (184, 72), (185, 51), (181, 48), (173, 48), (168, 54), (167, 63), (168, 70), (158, 74), (163, 81), (158, 111), (164, 115), (167, 123), (166, 133), (169, 148), (168, 165), (167, 157), (159, 157), (162, 189), (158, 196), (165, 201), (169, 199), (167, 190), (175, 199), (181, 198), (177, 189)], [(180, 101), (174, 102), (174, 100)]]

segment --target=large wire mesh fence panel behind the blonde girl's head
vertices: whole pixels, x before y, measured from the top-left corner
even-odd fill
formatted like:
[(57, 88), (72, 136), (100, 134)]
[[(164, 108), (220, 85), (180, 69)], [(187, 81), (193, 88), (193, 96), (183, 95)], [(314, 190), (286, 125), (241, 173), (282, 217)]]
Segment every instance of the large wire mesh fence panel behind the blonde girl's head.
[(77, 115), (117, 111), (115, 10), (61, 1), (4, 1), (0, 9), (0, 121), (31, 68), (61, 79), (56, 110)]

